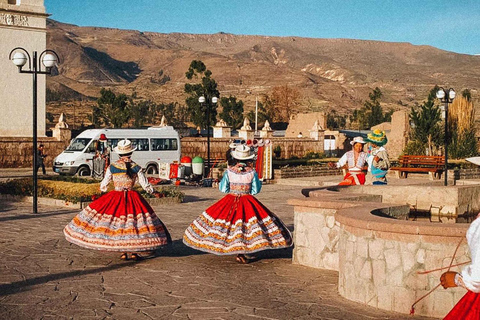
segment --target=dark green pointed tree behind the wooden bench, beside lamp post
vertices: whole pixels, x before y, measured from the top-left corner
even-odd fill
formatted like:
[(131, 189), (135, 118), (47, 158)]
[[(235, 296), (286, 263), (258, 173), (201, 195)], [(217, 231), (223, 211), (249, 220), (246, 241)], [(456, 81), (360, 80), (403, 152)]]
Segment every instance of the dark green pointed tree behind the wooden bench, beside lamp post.
[(440, 108), (435, 105), (438, 86), (435, 86), (428, 94), (427, 101), (419, 107), (412, 107), (410, 121), (412, 131), (410, 133), (409, 145), (405, 150), (406, 154), (429, 154), (442, 144), (443, 134), (441, 128)]

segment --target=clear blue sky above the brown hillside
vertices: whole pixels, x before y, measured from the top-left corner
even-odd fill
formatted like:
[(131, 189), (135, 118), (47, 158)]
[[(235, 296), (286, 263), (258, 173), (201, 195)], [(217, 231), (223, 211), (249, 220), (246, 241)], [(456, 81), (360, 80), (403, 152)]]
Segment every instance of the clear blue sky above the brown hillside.
[(480, 54), (479, 0), (45, 0), (79, 26), (410, 42)]

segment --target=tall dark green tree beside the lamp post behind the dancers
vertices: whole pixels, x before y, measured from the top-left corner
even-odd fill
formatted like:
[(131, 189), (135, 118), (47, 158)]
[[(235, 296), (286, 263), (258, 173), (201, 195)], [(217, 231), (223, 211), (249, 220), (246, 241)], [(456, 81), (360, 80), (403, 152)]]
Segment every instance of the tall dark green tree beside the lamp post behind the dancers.
[[(200, 60), (193, 60), (190, 63), (188, 71), (185, 73), (187, 79), (202, 76), (201, 83), (186, 83), (185, 93), (189, 96), (185, 99), (190, 118), (196, 126), (206, 128), (207, 123), (215, 123), (217, 119), (217, 105), (211, 102), (212, 97), (220, 98), (220, 92), (217, 90), (217, 83), (211, 77), (212, 72), (207, 69)], [(205, 103), (200, 104), (198, 98), (205, 97)], [(207, 122), (207, 111), (210, 112), (210, 119)]]

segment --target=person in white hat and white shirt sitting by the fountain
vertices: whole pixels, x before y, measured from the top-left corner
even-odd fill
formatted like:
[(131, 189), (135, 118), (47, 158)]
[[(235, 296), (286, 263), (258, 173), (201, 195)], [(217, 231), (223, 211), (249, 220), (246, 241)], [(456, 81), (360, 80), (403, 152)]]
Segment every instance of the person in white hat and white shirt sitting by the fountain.
[(363, 152), (363, 146), (365, 141), (362, 137), (355, 137), (350, 142), (352, 145), (352, 150), (346, 152), (338, 162), (330, 162), (328, 166), (330, 168), (342, 168), (347, 166), (348, 172), (343, 177), (343, 181), (340, 182), (339, 186), (352, 186), (365, 184), (365, 173), (366, 164), (367, 164), (367, 154)]

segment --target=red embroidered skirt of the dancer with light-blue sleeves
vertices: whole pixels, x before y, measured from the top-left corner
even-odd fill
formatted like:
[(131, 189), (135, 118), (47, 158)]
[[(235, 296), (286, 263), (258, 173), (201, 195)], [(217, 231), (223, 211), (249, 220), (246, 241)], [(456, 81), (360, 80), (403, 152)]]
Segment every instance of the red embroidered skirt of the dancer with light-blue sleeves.
[(283, 222), (251, 195), (227, 194), (194, 220), (183, 242), (217, 254), (245, 254), (292, 245)]

